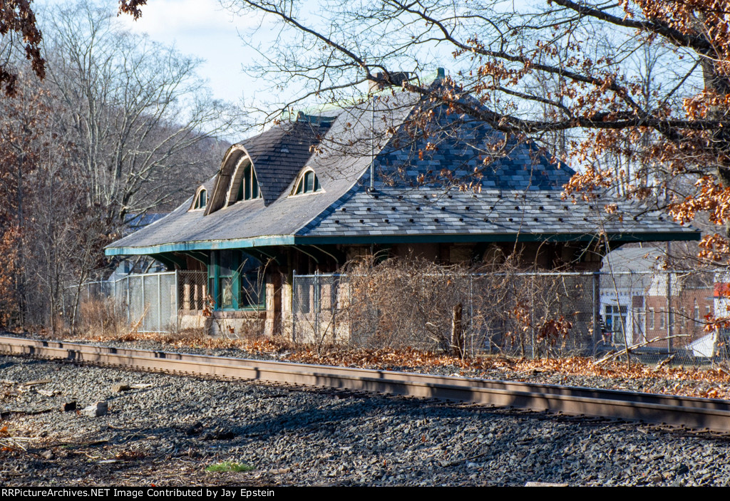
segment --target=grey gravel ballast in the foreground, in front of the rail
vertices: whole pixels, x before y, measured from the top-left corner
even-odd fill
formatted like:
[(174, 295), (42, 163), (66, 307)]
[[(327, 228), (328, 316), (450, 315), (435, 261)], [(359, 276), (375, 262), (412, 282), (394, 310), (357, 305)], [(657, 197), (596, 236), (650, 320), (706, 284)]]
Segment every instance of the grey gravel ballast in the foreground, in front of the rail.
[(4, 486), (730, 483), (726, 438), (636, 423), (4, 356), (0, 397)]

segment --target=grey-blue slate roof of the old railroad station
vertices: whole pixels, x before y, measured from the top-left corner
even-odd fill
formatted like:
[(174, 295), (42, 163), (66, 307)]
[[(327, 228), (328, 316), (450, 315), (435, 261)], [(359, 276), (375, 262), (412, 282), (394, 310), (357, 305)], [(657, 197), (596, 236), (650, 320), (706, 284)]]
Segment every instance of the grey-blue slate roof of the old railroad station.
[[(411, 129), (415, 106), (421, 106), (418, 96), (383, 93), (345, 107), (334, 122), (300, 116), (247, 139), (242, 144), (263, 198), (207, 215), (189, 211), (190, 199), (111, 244), (107, 254), (414, 238), (589, 240), (600, 232), (624, 241), (699, 238), (660, 214), (639, 215), (639, 206), (619, 203), (623, 219), (607, 214), (607, 195), (596, 203), (562, 201), (561, 187), (573, 171), (534, 144), (504, 141), (485, 123), (445, 109), (434, 109), (434, 127)], [(496, 158), (485, 156), (490, 147), (499, 150)], [(323, 190), (289, 196), (305, 166)], [(464, 183), (469, 190), (458, 190)]]

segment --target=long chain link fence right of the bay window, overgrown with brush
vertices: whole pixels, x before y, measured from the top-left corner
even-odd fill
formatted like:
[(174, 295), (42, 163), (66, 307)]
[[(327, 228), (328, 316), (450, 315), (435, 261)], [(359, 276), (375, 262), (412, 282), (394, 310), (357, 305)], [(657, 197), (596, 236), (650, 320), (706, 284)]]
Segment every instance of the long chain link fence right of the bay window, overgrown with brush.
[[(377, 269), (377, 268), (374, 268)], [(384, 273), (293, 277), (293, 340), (454, 354), (728, 358), (730, 276), (650, 273)], [(626, 355), (622, 355), (626, 356)]]

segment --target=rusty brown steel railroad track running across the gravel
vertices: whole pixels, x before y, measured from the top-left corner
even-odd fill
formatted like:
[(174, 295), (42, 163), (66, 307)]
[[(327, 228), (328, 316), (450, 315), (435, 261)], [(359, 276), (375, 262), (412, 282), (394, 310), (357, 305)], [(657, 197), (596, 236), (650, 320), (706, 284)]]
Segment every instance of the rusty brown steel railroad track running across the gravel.
[(329, 387), (730, 432), (730, 401), (158, 352), (0, 336), (0, 352), (166, 373)]

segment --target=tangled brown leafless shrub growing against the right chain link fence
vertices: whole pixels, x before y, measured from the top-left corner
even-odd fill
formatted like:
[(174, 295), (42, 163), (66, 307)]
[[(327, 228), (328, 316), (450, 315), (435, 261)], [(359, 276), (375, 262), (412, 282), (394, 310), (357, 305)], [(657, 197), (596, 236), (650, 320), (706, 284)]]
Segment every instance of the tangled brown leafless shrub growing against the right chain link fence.
[(590, 343), (590, 276), (526, 273), (515, 259), (479, 268), (376, 260), (347, 270), (354, 346), (549, 357)]

